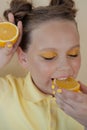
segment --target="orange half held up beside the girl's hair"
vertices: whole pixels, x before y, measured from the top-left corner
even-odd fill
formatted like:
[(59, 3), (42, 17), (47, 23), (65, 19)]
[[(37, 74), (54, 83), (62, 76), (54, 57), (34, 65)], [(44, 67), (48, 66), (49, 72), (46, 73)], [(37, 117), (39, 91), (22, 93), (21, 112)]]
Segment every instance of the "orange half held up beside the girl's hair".
[(10, 22), (0, 23), (0, 47), (5, 47), (7, 42), (15, 44), (19, 36), (17, 26)]

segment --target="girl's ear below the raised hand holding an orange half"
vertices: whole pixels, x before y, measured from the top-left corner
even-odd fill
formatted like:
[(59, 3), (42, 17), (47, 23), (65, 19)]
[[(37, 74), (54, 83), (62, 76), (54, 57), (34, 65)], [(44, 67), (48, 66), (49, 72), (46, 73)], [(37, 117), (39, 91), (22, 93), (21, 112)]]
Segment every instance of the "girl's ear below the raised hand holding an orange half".
[(27, 53), (25, 53), (20, 47), (17, 49), (17, 54), (18, 54), (18, 60), (20, 64), (23, 66), (23, 68), (28, 68), (29, 66), (29, 61), (27, 57)]

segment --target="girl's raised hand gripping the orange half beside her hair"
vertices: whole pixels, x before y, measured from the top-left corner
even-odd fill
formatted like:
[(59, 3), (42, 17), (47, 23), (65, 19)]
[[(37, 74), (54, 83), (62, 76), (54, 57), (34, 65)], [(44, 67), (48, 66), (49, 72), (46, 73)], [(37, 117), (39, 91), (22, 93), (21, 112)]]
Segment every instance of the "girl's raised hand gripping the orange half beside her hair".
[[(14, 16), (12, 13), (8, 14), (8, 19), (9, 19), (9, 22), (12, 22), (15, 24)], [(2, 21), (2, 20), (0, 19), (0, 21)], [(22, 28), (23, 28), (21, 21), (18, 22), (17, 27), (19, 29), (19, 38), (18, 38), (16, 44), (14, 44), (12, 46), (12, 44), (9, 42), (6, 44), (6, 46), (4, 48), (0, 47), (0, 69), (10, 62), (11, 58), (13, 57), (14, 53), (16, 52), (16, 50), (21, 42)]]

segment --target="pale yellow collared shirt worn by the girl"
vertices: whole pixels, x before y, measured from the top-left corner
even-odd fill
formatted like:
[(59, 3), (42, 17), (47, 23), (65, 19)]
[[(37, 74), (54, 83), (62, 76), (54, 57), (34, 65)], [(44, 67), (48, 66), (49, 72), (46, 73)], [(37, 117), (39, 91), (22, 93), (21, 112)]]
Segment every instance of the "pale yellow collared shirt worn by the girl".
[(41, 93), (30, 74), (0, 78), (0, 130), (84, 130), (50, 95)]

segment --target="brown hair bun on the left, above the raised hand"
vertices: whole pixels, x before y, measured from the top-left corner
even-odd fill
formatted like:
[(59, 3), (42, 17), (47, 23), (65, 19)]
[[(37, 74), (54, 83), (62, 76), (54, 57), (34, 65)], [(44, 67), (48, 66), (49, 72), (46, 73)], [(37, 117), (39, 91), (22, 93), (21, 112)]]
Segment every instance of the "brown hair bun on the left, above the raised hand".
[(5, 18), (8, 20), (8, 13), (12, 12), (15, 17), (15, 22), (23, 21), (24, 17), (32, 11), (32, 4), (27, 0), (12, 0), (10, 9), (4, 12)]

